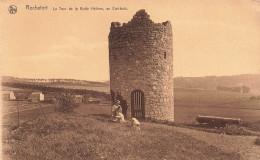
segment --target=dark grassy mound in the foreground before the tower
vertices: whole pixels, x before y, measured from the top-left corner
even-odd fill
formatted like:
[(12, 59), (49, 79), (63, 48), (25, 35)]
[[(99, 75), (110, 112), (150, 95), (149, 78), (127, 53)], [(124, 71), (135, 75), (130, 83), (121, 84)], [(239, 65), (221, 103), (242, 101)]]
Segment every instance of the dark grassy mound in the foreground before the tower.
[(52, 114), (3, 129), (10, 159), (240, 159), (171, 126), (144, 122), (135, 131), (100, 115)]

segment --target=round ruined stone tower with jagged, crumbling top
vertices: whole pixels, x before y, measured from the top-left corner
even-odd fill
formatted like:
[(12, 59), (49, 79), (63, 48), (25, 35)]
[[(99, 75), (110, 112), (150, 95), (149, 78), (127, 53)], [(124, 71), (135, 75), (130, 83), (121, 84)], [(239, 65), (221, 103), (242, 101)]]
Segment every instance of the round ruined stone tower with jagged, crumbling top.
[(127, 118), (174, 121), (172, 26), (154, 23), (145, 10), (112, 22), (109, 33), (112, 103)]

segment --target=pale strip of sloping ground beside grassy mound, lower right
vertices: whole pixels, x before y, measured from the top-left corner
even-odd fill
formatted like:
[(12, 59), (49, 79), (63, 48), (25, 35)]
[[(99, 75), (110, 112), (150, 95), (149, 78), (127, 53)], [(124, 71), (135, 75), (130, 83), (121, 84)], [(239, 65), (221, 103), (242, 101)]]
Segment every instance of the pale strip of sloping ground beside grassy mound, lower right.
[(188, 128), (175, 128), (179, 132), (218, 147), (223, 151), (237, 152), (244, 160), (260, 160), (260, 146), (254, 144), (256, 139), (254, 136), (230, 136)]

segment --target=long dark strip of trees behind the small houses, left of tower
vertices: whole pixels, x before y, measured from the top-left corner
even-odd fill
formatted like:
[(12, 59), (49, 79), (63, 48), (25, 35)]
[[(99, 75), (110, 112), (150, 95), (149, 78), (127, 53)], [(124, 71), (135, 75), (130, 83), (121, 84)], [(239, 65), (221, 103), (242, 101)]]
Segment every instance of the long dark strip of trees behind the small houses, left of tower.
[(32, 89), (32, 90), (40, 90), (42, 92), (69, 92), (71, 94), (87, 94), (93, 98), (102, 98), (105, 100), (110, 100), (110, 94), (105, 92), (86, 90), (86, 89), (70, 89), (70, 88), (58, 88), (58, 87), (50, 87), (36, 84), (27, 84), (27, 83), (2, 83), (2, 86), (12, 87), (12, 88), (22, 88), (22, 89)]

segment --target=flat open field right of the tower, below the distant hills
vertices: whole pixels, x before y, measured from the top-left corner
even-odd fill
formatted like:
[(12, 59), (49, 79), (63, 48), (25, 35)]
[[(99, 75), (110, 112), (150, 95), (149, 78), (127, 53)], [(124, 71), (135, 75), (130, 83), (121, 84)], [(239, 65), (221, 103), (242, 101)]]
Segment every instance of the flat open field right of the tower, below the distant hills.
[(174, 96), (179, 123), (192, 123), (200, 114), (260, 121), (260, 100), (249, 100), (250, 94), (177, 88)]

